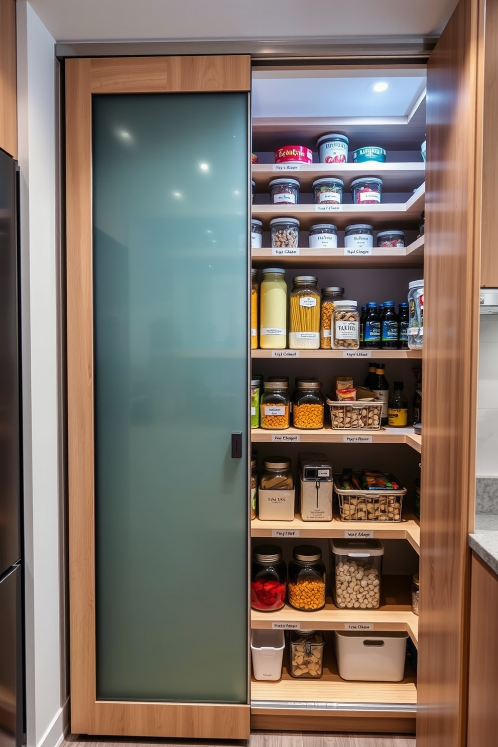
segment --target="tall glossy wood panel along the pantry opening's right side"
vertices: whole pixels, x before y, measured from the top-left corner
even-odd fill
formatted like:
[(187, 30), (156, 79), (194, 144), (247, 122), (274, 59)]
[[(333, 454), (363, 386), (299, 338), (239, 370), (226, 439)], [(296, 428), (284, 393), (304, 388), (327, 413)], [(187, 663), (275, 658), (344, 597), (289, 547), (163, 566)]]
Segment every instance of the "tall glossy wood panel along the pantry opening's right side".
[(462, 747), (479, 329), (478, 0), (428, 66), (417, 746)]

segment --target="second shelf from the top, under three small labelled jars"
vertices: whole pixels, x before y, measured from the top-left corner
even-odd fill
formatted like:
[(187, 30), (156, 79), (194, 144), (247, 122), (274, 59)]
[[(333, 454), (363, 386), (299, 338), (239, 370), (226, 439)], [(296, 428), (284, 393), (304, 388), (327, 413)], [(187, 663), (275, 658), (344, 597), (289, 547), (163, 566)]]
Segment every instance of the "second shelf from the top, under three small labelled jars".
[(413, 223), (418, 225), (424, 208), (425, 192), (424, 183), (407, 202), (331, 205), (332, 209), (327, 211), (316, 211), (317, 205), (252, 205), (252, 217), (262, 220), (264, 229), (268, 229), (273, 218), (294, 217), (299, 220), (302, 231), (307, 231), (314, 223), (326, 223), (330, 220), (333, 220), (338, 229), (344, 229), (350, 223), (370, 223), (374, 229)]

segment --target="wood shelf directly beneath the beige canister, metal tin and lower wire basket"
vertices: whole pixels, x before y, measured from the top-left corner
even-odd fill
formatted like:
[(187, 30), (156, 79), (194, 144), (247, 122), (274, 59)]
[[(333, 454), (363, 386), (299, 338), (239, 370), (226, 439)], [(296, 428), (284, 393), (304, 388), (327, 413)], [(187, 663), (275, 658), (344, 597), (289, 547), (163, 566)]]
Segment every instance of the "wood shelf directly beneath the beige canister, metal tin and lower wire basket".
[[(251, 521), (252, 537), (309, 537), (344, 538), (347, 532), (372, 532), (373, 539), (407, 539), (412, 548), (420, 550), (420, 527), (414, 515), (402, 516), (401, 521), (302, 521), (296, 514), (293, 521)], [(281, 533), (278, 535), (277, 533)]]

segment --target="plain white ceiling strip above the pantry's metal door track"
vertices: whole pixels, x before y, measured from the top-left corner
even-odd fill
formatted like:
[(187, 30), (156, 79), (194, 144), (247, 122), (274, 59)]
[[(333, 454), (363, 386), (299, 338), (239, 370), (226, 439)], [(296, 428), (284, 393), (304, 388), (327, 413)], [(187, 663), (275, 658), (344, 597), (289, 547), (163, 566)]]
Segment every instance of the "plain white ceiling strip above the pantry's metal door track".
[(432, 36), (457, 0), (29, 0), (57, 42)]

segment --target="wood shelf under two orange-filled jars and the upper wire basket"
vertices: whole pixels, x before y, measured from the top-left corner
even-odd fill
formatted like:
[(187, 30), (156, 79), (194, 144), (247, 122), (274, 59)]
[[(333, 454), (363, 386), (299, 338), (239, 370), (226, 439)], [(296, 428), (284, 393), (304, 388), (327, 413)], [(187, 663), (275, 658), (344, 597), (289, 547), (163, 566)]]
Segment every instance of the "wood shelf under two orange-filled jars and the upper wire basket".
[(408, 444), (412, 449), (421, 453), (422, 436), (417, 436), (413, 428), (382, 427), (380, 430), (299, 430), (286, 428), (285, 430), (264, 430), (252, 428), (251, 441), (261, 443), (302, 443), (302, 444)]

